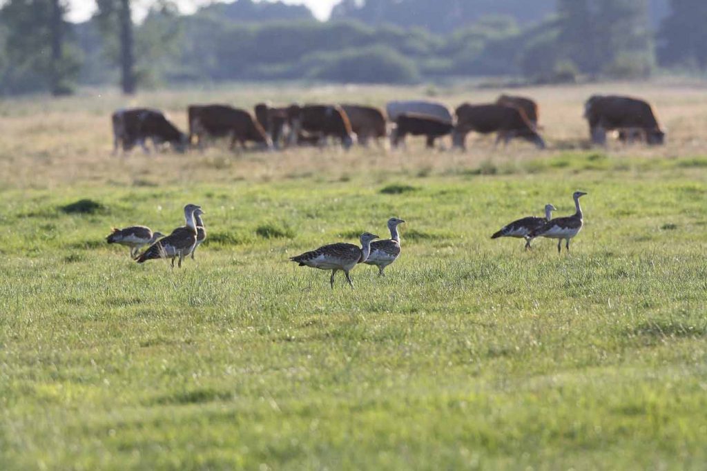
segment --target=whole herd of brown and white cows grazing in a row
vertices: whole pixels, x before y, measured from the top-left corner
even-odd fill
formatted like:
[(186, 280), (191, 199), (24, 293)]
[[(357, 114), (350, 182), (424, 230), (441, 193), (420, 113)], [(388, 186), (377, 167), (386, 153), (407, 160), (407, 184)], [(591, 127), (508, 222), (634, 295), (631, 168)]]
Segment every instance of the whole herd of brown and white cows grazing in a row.
[[(653, 109), (643, 100), (617, 95), (592, 95), (584, 107), (592, 143), (604, 145), (607, 132), (615, 132), (624, 142), (645, 141), (662, 144)], [(155, 148), (170, 145), (183, 152), (203, 149), (216, 138), (228, 138), (230, 148), (238, 143), (247, 148), (282, 149), (296, 145), (323, 145), (329, 141), (349, 148), (355, 142), (392, 147), (404, 144), (406, 136), (424, 136), (428, 148), (436, 140), (451, 136), (452, 145), (465, 148), (470, 132), (496, 133), (496, 143), (520, 138), (544, 148), (539, 135), (539, 108), (527, 97), (501, 95), (493, 103), (463, 103), (454, 113), (438, 102), (425, 100), (391, 101), (385, 112), (366, 105), (288, 105), (273, 107), (259, 103), (253, 112), (230, 105), (191, 105), (187, 108), (189, 132), (183, 133), (163, 112), (151, 108), (120, 109), (112, 114), (114, 153), (140, 145), (148, 152), (147, 141)]]

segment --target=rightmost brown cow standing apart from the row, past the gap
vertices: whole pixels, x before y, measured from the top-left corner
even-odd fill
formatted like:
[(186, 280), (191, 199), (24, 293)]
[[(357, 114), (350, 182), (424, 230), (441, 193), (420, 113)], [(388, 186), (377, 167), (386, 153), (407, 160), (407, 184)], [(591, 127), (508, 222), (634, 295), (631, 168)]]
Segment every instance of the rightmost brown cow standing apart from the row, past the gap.
[(665, 141), (653, 109), (637, 98), (592, 95), (585, 102), (584, 117), (595, 144), (606, 144), (607, 131), (619, 131), (621, 141), (633, 141), (638, 134), (645, 136), (650, 145), (662, 145)]

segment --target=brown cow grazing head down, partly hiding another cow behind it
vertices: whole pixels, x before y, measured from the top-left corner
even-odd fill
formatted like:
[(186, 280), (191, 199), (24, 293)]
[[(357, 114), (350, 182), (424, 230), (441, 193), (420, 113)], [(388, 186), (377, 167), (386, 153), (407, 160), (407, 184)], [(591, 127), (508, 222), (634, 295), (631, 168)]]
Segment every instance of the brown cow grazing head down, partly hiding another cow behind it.
[(455, 147), (466, 148), (464, 141), (469, 131), (481, 134), (497, 133), (496, 144), (503, 140), (523, 138), (544, 149), (545, 142), (525, 117), (522, 109), (503, 105), (469, 105), (464, 103), (455, 111), (457, 126), (452, 141)]

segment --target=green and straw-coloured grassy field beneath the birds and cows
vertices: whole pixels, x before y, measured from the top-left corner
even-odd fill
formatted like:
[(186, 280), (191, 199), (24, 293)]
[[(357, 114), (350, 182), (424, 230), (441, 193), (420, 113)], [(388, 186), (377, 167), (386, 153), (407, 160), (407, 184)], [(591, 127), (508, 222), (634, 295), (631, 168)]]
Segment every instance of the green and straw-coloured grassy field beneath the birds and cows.
[[(539, 97), (542, 153), (478, 139), (116, 158), (116, 96), (1, 103), (0, 469), (704, 469), (707, 94), (600, 91), (627, 90), (656, 102), (664, 148), (583, 150), (589, 87), (522, 90)], [(183, 124), (189, 100), (297, 91), (135, 102)], [(577, 189), (570, 254), (489, 239), (545, 203), (573, 213)], [(82, 199), (98, 204), (72, 211)], [(116, 225), (168, 231), (185, 203), (206, 210), (209, 240), (182, 270), (103, 241)], [(385, 278), (359, 266), (356, 290), (332, 291), (287, 261), (383, 236), (391, 215), (408, 222)]]

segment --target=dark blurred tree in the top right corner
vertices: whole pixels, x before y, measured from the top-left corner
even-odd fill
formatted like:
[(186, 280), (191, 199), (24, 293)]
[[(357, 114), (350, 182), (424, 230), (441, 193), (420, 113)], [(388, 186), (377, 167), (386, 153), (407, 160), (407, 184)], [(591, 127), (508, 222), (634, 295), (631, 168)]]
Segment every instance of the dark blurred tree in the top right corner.
[(707, 68), (707, 2), (671, 0), (670, 8), (658, 32), (658, 61)]

